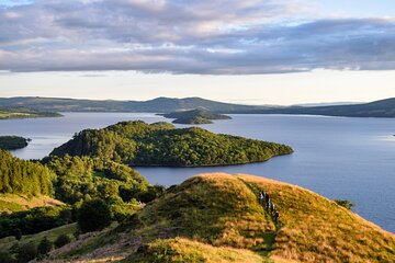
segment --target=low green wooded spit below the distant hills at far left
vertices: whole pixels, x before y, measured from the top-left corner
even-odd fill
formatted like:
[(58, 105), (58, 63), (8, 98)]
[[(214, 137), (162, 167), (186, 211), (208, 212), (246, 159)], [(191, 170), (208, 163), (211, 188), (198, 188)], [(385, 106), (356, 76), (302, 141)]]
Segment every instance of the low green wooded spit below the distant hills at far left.
[[(0, 105), (1, 106), (1, 105)], [(36, 117), (61, 117), (60, 113), (44, 112), (26, 107), (0, 107), (0, 119), (9, 118), (36, 118)]]

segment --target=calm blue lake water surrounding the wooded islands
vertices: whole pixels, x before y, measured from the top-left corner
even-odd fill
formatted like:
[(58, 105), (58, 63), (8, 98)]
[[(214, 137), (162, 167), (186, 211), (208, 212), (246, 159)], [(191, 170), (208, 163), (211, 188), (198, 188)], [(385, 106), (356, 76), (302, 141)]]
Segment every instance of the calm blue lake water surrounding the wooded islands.
[[(0, 121), (0, 135), (32, 138), (13, 153), (42, 158), (83, 128), (120, 121), (166, 121), (143, 113), (65, 113), (63, 118)], [(232, 115), (202, 127), (283, 142), (295, 153), (264, 163), (217, 168), (138, 168), (151, 183), (177, 184), (205, 172), (249, 173), (296, 184), (329, 198), (350, 199), (354, 211), (395, 232), (395, 119), (290, 115)], [(179, 127), (187, 127), (178, 125)]]

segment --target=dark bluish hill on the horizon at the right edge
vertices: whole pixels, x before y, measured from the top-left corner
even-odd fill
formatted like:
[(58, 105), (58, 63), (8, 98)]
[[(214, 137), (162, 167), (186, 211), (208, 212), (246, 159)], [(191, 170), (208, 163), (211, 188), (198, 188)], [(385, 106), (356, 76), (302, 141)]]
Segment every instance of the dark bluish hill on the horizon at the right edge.
[(343, 117), (395, 117), (395, 98), (374, 101), (363, 104), (336, 105), (336, 106), (291, 106), (283, 108), (270, 108), (252, 111), (249, 113), (262, 114), (306, 114)]

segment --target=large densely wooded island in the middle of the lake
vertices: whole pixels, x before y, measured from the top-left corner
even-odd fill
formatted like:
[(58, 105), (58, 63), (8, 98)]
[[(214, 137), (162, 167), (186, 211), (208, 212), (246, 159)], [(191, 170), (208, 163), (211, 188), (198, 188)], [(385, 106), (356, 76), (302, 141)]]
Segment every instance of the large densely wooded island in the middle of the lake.
[(75, 135), (50, 156), (89, 156), (129, 165), (200, 167), (260, 162), (289, 155), (291, 147), (167, 123), (122, 122)]

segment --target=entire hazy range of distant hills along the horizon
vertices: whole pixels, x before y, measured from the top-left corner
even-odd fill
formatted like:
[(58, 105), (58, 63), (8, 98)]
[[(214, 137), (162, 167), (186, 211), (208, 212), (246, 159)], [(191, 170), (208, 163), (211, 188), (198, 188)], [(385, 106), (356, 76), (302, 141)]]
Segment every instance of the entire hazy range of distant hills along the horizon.
[(201, 98), (157, 98), (149, 101), (94, 101), (56, 98), (0, 98), (0, 107), (26, 107), (46, 112), (151, 112), (170, 113), (202, 108), (214, 113), (306, 114), (345, 117), (395, 117), (395, 98), (350, 105), (267, 106), (240, 105)]

